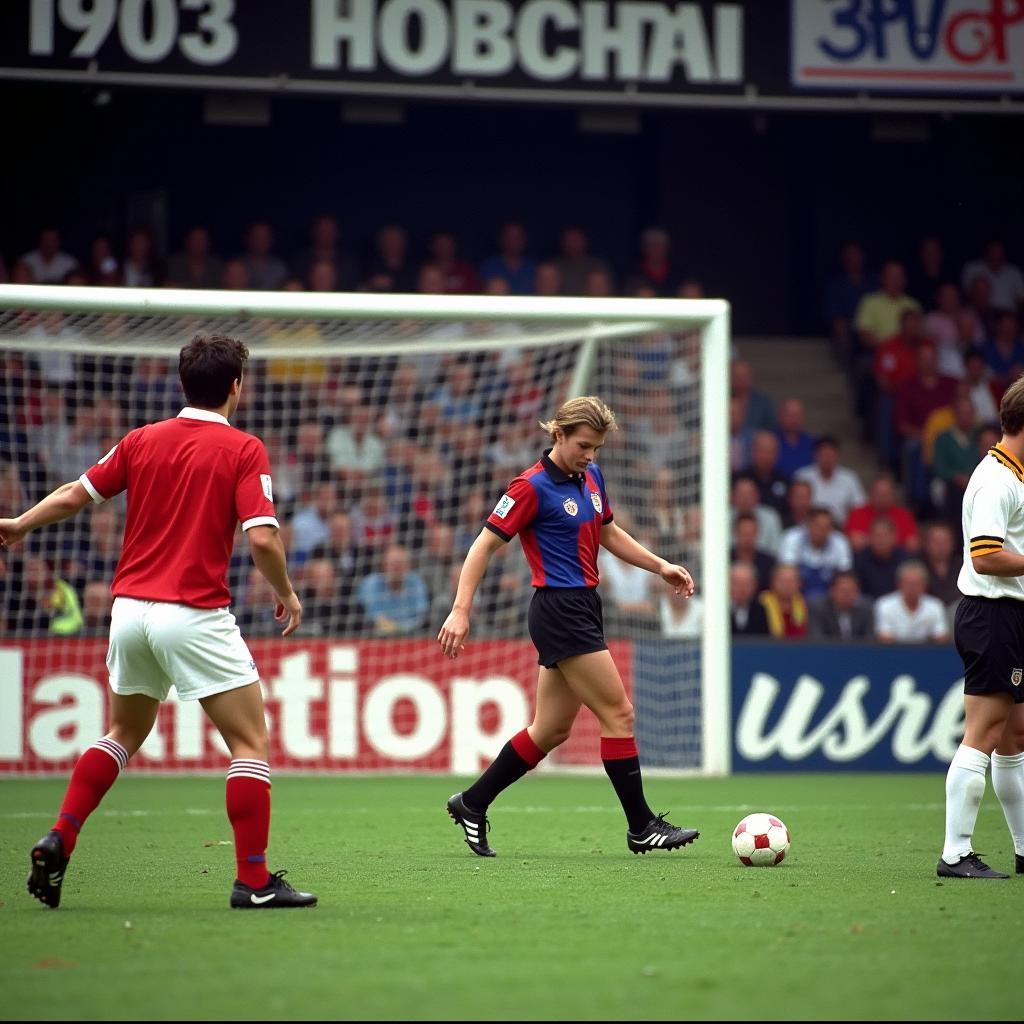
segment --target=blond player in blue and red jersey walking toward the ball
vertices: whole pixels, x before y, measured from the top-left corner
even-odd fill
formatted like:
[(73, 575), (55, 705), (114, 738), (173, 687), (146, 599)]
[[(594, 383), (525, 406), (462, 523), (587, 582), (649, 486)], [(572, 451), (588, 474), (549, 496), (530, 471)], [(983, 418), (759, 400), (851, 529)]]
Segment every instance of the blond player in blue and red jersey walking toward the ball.
[(633, 706), (604, 640), (596, 590), (598, 547), (656, 572), (676, 594), (690, 597), (693, 581), (682, 565), (658, 558), (612, 519), (604, 476), (595, 462), (605, 435), (617, 429), (611, 410), (600, 398), (572, 398), (544, 427), (554, 446), (509, 484), (490, 513), (466, 555), (455, 605), (437, 635), (444, 654), (458, 657), (469, 635), (473, 595), (490, 556), (518, 534), (536, 588), (528, 624), (541, 665), (537, 711), (528, 728), (502, 748), (490, 767), (449, 800), (447, 811), (475, 854), (495, 856), (487, 843), (487, 807), (568, 738), (586, 705), (601, 724), (601, 760), (626, 812), (629, 849), (675, 850), (692, 843), (698, 833), (655, 815), (644, 798)]

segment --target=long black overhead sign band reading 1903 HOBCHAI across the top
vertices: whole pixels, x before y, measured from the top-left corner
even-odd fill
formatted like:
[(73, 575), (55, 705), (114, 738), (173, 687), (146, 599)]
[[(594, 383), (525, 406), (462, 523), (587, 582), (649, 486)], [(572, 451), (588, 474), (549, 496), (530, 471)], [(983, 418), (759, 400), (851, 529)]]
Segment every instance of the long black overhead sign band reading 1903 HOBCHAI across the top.
[(1016, 113), (1022, 37), (1010, 0), (5, 0), (0, 79)]

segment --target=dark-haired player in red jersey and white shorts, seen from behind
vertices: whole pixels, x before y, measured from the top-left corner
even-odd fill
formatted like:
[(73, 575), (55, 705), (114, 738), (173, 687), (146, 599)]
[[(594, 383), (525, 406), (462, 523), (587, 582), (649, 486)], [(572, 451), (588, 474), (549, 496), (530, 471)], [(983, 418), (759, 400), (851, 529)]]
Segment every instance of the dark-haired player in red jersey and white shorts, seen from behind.
[(278, 532), (270, 463), (259, 438), (230, 426), (248, 349), (221, 335), (197, 335), (178, 373), (188, 406), (176, 419), (132, 430), (78, 480), (16, 519), (0, 519), (0, 545), (67, 519), (90, 502), (128, 492), (124, 544), (112, 587), (111, 728), (79, 759), (53, 828), (32, 849), (29, 892), (60, 902), (78, 835), (128, 759), (142, 745), (173, 685), (199, 700), (231, 753), (227, 816), (237, 878), (230, 906), (313, 906), (269, 873), (270, 767), (256, 663), (228, 610), (227, 564), (237, 523), (276, 595), (289, 636), (302, 621)]

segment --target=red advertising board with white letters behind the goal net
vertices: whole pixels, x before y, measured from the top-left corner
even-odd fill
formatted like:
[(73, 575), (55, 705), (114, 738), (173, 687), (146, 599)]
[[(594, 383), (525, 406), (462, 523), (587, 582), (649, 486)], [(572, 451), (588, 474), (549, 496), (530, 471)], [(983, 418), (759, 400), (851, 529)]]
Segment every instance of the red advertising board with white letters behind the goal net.
[[(475, 774), (529, 723), (537, 651), (478, 642), (458, 660), (435, 641), (251, 640), (274, 768)], [(612, 648), (630, 685), (630, 645)], [(67, 771), (106, 728), (106, 641), (0, 645), (0, 773)], [(496, 668), (497, 667), (497, 668)], [(584, 711), (553, 761), (600, 767)], [(196, 701), (169, 700), (133, 769), (220, 770), (227, 753)]]

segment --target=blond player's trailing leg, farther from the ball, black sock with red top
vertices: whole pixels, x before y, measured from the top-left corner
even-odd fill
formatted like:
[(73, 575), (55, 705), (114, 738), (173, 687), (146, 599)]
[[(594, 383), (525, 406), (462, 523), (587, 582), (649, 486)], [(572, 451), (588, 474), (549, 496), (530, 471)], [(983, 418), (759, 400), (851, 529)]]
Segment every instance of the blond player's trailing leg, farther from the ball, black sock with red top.
[(528, 728), (517, 732), (498, 753), (483, 774), (466, 791), (447, 802), (449, 816), (462, 826), (466, 845), (479, 857), (494, 857), (487, 842), (490, 822), (487, 808), (500, 793), (517, 782), (572, 729), (580, 699), (558, 669), (541, 669), (537, 683), (537, 711)]

